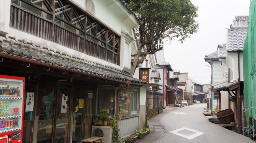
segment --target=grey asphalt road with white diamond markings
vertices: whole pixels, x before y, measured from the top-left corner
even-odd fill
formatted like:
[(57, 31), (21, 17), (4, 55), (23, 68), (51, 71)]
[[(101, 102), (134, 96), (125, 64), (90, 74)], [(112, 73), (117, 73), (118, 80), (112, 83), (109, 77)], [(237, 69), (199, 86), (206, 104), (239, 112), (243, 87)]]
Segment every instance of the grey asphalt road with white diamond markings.
[(160, 119), (165, 134), (154, 143), (255, 143), (241, 134), (209, 122), (202, 114), (205, 107), (206, 104), (198, 103), (170, 110)]

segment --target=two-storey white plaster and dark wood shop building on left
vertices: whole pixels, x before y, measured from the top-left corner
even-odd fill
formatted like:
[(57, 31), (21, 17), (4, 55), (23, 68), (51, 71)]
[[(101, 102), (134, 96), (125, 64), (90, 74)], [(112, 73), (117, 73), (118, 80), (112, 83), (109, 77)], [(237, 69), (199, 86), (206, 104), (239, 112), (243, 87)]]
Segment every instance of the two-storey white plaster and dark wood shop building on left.
[[(140, 20), (127, 4), (2, 0), (0, 9), (0, 74), (25, 77), (25, 98), (35, 94), (22, 143), (80, 142), (92, 136), (92, 116), (103, 108), (118, 119), (127, 110), (118, 121), (121, 137), (145, 127), (150, 85), (130, 74), (127, 53)], [(122, 91), (132, 96), (121, 107)]]

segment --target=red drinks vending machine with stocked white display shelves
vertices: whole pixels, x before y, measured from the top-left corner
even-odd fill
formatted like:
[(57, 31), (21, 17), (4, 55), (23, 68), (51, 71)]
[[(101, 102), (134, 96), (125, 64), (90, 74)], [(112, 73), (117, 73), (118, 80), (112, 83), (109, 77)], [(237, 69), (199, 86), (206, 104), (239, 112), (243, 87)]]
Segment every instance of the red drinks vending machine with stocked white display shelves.
[(25, 78), (0, 75), (0, 143), (21, 143)]

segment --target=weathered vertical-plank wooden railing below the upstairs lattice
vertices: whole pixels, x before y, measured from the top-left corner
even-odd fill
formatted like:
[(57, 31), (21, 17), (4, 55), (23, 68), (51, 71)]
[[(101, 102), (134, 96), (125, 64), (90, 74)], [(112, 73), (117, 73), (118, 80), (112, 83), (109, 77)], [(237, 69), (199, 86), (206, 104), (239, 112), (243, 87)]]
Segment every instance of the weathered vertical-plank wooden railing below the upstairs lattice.
[[(50, 40), (65, 47), (69, 47), (70, 49), (89, 54), (90, 56), (94, 56), (96, 58), (100, 58), (117, 65), (120, 64), (120, 49), (118, 49), (117, 53), (106, 48), (107, 42), (105, 42), (105, 45), (100, 45), (97, 42), (93, 42), (85, 38), (86, 35), (91, 36), (91, 34), (85, 33), (86, 29), (90, 28), (89, 26), (87, 26), (86, 29), (82, 31), (84, 32), (83, 34), (78, 34), (62, 25), (53, 22), (53, 20), (39, 16), (13, 3), (11, 4), (10, 13), (10, 27), (38, 36), (40, 38), (44, 38), (46, 40)], [(92, 19), (90, 18), (90, 20)], [(71, 26), (74, 27), (74, 25)], [(81, 29), (77, 29), (77, 31), (80, 30), (81, 32)], [(108, 33), (109, 30), (106, 30), (105, 28), (105, 31)], [(97, 36), (93, 38), (97, 38)], [(118, 44), (120, 45), (120, 41)], [(113, 47), (114, 46), (115, 45), (113, 45)]]

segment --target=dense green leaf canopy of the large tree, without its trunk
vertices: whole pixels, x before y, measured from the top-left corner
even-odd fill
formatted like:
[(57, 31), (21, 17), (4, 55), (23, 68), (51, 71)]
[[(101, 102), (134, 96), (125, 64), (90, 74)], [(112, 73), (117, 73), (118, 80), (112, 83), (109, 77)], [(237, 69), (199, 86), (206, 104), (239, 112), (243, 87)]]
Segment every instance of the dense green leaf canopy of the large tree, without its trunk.
[[(191, 0), (126, 0), (133, 11), (145, 22), (147, 47), (160, 44), (165, 38), (180, 38), (183, 42), (196, 33), (198, 7)], [(152, 47), (152, 48), (153, 48)], [(150, 47), (151, 48), (151, 47)]]

